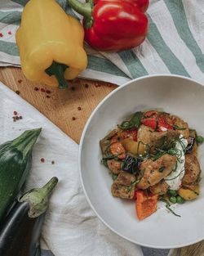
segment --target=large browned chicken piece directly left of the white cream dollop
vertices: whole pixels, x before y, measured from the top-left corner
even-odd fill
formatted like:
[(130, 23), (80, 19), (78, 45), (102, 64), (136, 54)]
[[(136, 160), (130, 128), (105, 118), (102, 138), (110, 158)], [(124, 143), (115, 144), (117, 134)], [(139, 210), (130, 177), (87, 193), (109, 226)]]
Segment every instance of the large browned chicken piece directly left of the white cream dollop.
[(162, 179), (168, 176), (175, 168), (176, 161), (175, 155), (167, 154), (162, 155), (155, 161), (153, 161), (153, 159), (144, 160), (140, 164), (140, 173), (144, 172), (144, 174), (136, 187), (146, 189), (162, 181)]

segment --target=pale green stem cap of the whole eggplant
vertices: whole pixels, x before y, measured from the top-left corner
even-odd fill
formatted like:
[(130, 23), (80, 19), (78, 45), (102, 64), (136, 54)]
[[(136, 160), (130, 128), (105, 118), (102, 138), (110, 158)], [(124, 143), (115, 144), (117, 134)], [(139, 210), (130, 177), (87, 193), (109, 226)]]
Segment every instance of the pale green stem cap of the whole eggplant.
[(29, 218), (37, 218), (45, 213), (49, 204), (52, 191), (58, 182), (57, 177), (52, 177), (45, 186), (34, 188), (20, 197), (20, 202), (29, 203)]

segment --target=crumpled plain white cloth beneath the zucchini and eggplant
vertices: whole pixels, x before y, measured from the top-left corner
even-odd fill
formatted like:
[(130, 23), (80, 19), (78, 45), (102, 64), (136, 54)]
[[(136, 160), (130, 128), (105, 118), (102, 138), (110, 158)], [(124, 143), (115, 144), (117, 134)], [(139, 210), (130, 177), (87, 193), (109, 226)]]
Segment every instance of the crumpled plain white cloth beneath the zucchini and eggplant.
[[(52, 253), (55, 256), (142, 256), (140, 246), (114, 234), (91, 210), (79, 180), (78, 145), (2, 83), (0, 99), (1, 144), (27, 129), (42, 127), (33, 150), (27, 189), (42, 186), (53, 176), (59, 178), (42, 230), (42, 239)], [(15, 123), (14, 110), (23, 116)], [(45, 163), (41, 162), (42, 157)], [(52, 160), (55, 164), (51, 164)]]

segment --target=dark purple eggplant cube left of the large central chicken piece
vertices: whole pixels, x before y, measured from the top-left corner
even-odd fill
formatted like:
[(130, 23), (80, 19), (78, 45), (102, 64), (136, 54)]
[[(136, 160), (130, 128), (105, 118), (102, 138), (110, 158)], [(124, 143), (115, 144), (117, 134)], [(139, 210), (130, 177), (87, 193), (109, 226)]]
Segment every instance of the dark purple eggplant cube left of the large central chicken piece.
[(136, 174), (140, 168), (140, 159), (137, 159), (131, 155), (126, 155), (126, 159), (122, 163), (122, 171)]

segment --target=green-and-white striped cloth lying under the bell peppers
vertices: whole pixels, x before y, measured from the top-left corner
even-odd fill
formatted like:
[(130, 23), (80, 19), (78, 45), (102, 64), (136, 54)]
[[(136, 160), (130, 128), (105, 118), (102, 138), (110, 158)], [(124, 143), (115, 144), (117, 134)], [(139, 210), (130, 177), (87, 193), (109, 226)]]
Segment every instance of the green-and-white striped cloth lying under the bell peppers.
[[(26, 2), (0, 2), (0, 65), (20, 65), (15, 33)], [(58, 2), (67, 13), (77, 16), (66, 0)], [(147, 74), (180, 74), (204, 83), (203, 10), (202, 0), (150, 1), (149, 34), (144, 43), (118, 53), (86, 47), (89, 64), (81, 77), (120, 85)]]

